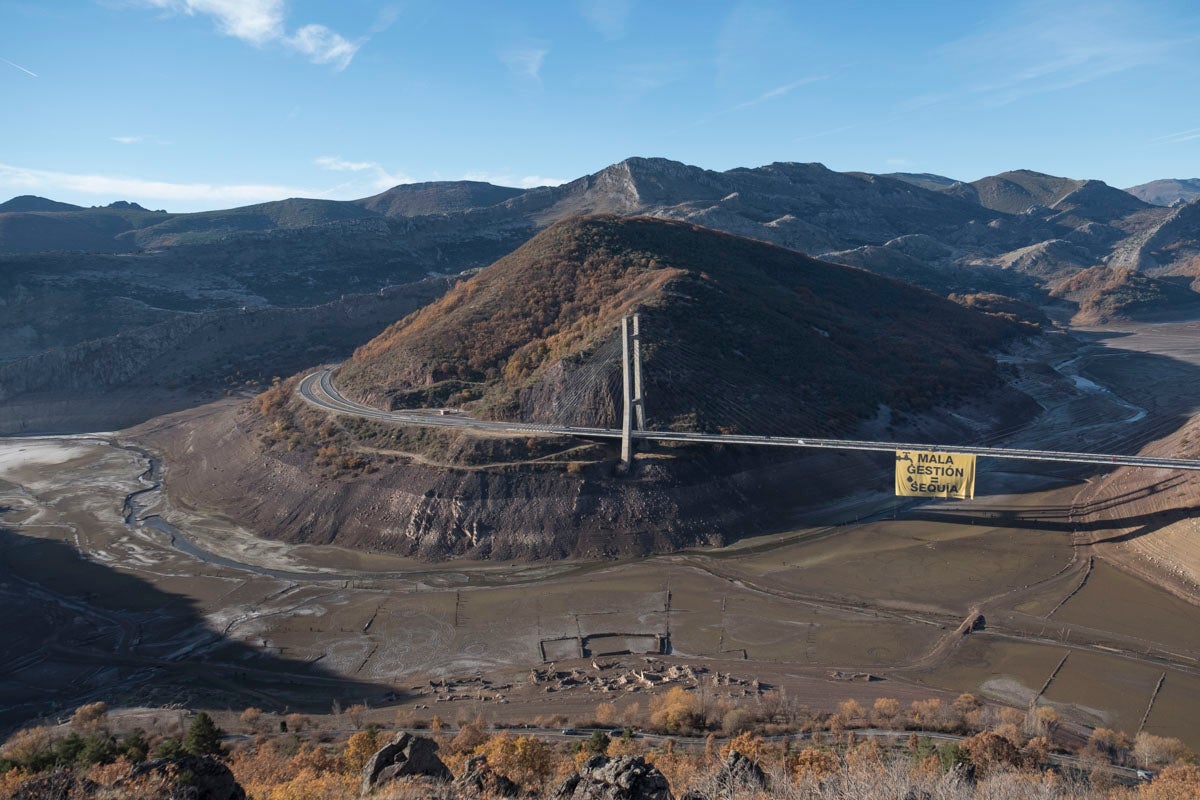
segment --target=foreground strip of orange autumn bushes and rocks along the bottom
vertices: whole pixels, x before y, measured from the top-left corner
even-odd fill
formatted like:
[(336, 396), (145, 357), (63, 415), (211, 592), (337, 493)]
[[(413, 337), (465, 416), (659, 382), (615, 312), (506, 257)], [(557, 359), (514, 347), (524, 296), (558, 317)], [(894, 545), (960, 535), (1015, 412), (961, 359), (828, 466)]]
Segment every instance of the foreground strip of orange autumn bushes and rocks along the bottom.
[[(847, 699), (817, 712), (772, 694), (706, 709), (677, 687), (641, 709), (601, 702), (564, 736), (535, 727), (563, 718), (502, 728), (364, 705), (318, 718), (257, 708), (217, 715), (228, 730), (203, 711), (185, 729), (172, 712), (131, 729), (92, 703), (64, 724), (7, 738), (0, 798), (1183, 800), (1200, 792), (1195, 754), (1178, 740), (1081, 734), (1049, 706), (996, 708), (971, 694), (908, 706)], [(396, 742), (420, 744), (424, 762), (379, 781), (379, 758)], [(631, 784), (606, 786), (612, 772)]]

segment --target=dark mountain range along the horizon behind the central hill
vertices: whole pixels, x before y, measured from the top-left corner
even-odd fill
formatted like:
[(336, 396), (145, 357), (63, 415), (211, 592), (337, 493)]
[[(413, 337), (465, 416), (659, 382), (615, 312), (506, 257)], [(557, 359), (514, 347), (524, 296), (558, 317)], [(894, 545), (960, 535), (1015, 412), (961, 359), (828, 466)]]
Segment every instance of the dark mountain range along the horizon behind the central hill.
[[(186, 320), (196, 330), (222, 325), (217, 312), (316, 308), (385, 287), (403, 293), (469, 273), (586, 213), (683, 221), (943, 296), (1008, 296), (1082, 321), (1190, 312), (1200, 300), (1192, 285), (1200, 276), (1196, 200), (1165, 207), (1100, 181), (1028, 170), (964, 184), (805, 163), (713, 172), (628, 158), (556, 187), (414, 184), (353, 201), (199, 213), (14, 198), (0, 205), (0, 360), (12, 374), (41, 356), (44, 369), (47, 359), (78, 360), (72, 348), (84, 344), (124, 353), (128, 339), (120, 337), (150, 325)], [(370, 338), (385, 324), (355, 330)], [(215, 343), (226, 341), (216, 333)], [(233, 343), (214, 347), (226, 349), (208, 361), (227, 365), (228, 375), (288, 371), (250, 365)], [(184, 372), (200, 380), (212, 369)], [(143, 372), (137, 380), (157, 378)], [(0, 396), (13, 391), (0, 385)]]

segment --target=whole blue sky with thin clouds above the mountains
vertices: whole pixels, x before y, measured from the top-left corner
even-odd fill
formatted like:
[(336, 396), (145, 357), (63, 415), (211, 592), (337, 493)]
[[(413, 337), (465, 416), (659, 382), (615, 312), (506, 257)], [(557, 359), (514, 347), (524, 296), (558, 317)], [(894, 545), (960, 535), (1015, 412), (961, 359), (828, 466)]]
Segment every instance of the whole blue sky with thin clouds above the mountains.
[(190, 211), (628, 156), (1200, 175), (1200, 6), (0, 0), (0, 198)]

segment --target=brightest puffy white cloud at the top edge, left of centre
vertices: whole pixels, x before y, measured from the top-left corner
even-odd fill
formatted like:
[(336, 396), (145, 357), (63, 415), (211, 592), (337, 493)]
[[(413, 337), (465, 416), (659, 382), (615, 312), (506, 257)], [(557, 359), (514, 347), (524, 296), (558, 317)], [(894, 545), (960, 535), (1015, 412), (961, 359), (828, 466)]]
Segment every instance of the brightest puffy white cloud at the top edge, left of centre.
[(289, 34), (283, 0), (144, 0), (155, 8), (188, 16), (211, 17), (226, 36), (256, 47), (281, 44), (300, 53), (313, 64), (329, 64), (335, 70), (349, 66), (365, 38), (350, 41), (325, 25), (310, 24)]

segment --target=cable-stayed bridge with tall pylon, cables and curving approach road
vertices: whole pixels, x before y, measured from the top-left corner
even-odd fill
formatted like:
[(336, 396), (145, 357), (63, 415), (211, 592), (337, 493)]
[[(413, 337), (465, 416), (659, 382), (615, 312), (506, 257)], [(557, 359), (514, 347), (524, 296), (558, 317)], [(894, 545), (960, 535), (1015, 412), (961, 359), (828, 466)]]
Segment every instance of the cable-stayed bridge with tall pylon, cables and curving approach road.
[[(1153, 456), (1130, 456), (1120, 453), (1067, 452), (1057, 450), (1022, 450), (1015, 447), (990, 447), (980, 445), (934, 445), (924, 443), (868, 441), (858, 439), (810, 438), (804, 435), (751, 435), (742, 433), (703, 433), (683, 431), (646, 429), (644, 384), (641, 369), (641, 333), (637, 315), (622, 320), (619, 350), (610, 343), (598, 350), (599, 357), (583, 365), (578, 371), (582, 379), (575, 380), (562, 392), (558, 402), (570, 407), (578, 402), (584, 384), (616, 383), (619, 380), (622, 397), (622, 427), (587, 427), (577, 425), (541, 425), (535, 422), (506, 422), (498, 420), (476, 420), (466, 414), (446, 413), (444, 410), (398, 410), (385, 411), (350, 401), (337, 391), (332, 381), (332, 367), (326, 367), (306, 375), (298, 386), (300, 397), (325, 411), (358, 416), (395, 425), (413, 425), (438, 428), (467, 428), (497, 434), (542, 434), (580, 437), (586, 439), (613, 439), (622, 443), (622, 462), (629, 464), (632, 458), (634, 443), (679, 441), (697, 444), (754, 445), (768, 447), (806, 447), (815, 450), (874, 451), (895, 452), (898, 450), (922, 450), (929, 452), (954, 452), (988, 458), (1015, 461), (1060, 462), (1074, 464), (1094, 464), (1104, 467), (1142, 467), (1152, 469), (1200, 470), (1200, 459), (1170, 458)], [(613, 353), (620, 354), (619, 373), (608, 368)], [(619, 379), (614, 378), (619, 374)], [(578, 378), (578, 377), (577, 377)]]

